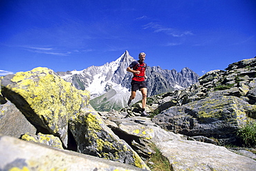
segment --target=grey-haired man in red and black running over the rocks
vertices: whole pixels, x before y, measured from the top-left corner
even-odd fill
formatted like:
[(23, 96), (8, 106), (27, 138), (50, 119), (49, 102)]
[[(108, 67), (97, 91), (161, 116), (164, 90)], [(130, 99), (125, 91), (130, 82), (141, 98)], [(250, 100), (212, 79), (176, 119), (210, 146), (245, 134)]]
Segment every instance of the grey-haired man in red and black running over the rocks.
[(136, 97), (136, 91), (140, 90), (140, 92), (143, 94), (143, 109), (141, 112), (141, 117), (147, 117), (148, 114), (145, 111), (146, 103), (147, 103), (147, 85), (145, 79), (147, 79), (146, 76), (146, 68), (147, 64), (144, 63), (146, 54), (144, 52), (140, 52), (138, 54), (138, 61), (133, 61), (129, 67), (127, 68), (128, 72), (131, 72), (134, 74), (134, 77), (132, 77), (131, 80), (131, 96), (128, 101), (128, 105), (131, 104), (131, 101)]

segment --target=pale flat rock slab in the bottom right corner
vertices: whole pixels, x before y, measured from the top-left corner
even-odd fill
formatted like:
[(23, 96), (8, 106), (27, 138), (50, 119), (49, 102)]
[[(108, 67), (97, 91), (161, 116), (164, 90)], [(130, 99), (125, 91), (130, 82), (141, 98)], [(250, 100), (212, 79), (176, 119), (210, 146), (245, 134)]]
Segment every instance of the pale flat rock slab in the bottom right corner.
[(156, 143), (174, 170), (256, 170), (256, 161), (228, 149), (199, 141)]

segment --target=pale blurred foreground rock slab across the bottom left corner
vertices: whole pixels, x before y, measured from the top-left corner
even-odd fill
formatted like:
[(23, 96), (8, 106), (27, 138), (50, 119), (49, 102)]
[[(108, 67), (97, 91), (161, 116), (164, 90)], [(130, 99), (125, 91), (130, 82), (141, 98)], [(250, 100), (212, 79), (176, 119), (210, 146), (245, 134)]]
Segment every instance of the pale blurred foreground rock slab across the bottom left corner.
[(0, 135), (0, 170), (143, 170), (48, 145)]

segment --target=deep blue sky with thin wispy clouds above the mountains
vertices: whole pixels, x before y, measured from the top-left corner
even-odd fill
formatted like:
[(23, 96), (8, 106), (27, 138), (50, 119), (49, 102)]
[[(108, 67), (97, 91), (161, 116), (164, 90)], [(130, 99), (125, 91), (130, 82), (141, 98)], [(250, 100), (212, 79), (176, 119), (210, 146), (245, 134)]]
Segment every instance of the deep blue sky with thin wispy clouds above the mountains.
[(199, 75), (256, 56), (254, 0), (1, 0), (0, 74), (115, 61)]

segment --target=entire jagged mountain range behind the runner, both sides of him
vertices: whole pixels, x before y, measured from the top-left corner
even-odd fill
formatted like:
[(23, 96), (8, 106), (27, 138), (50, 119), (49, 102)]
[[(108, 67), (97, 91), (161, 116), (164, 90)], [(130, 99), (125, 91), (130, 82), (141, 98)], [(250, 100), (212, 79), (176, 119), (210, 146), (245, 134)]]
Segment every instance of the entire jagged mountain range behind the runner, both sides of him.
[[(116, 61), (105, 63), (103, 66), (90, 66), (81, 71), (57, 72), (62, 79), (73, 83), (77, 89), (91, 92), (91, 105), (96, 110), (111, 110), (124, 108), (130, 96), (132, 74), (126, 69), (132, 61), (135, 61), (125, 51)], [(159, 66), (147, 67), (148, 96), (179, 90), (191, 86), (197, 82), (199, 75), (183, 68), (181, 72), (176, 70), (163, 70)], [(141, 99), (137, 93), (134, 103)]]

